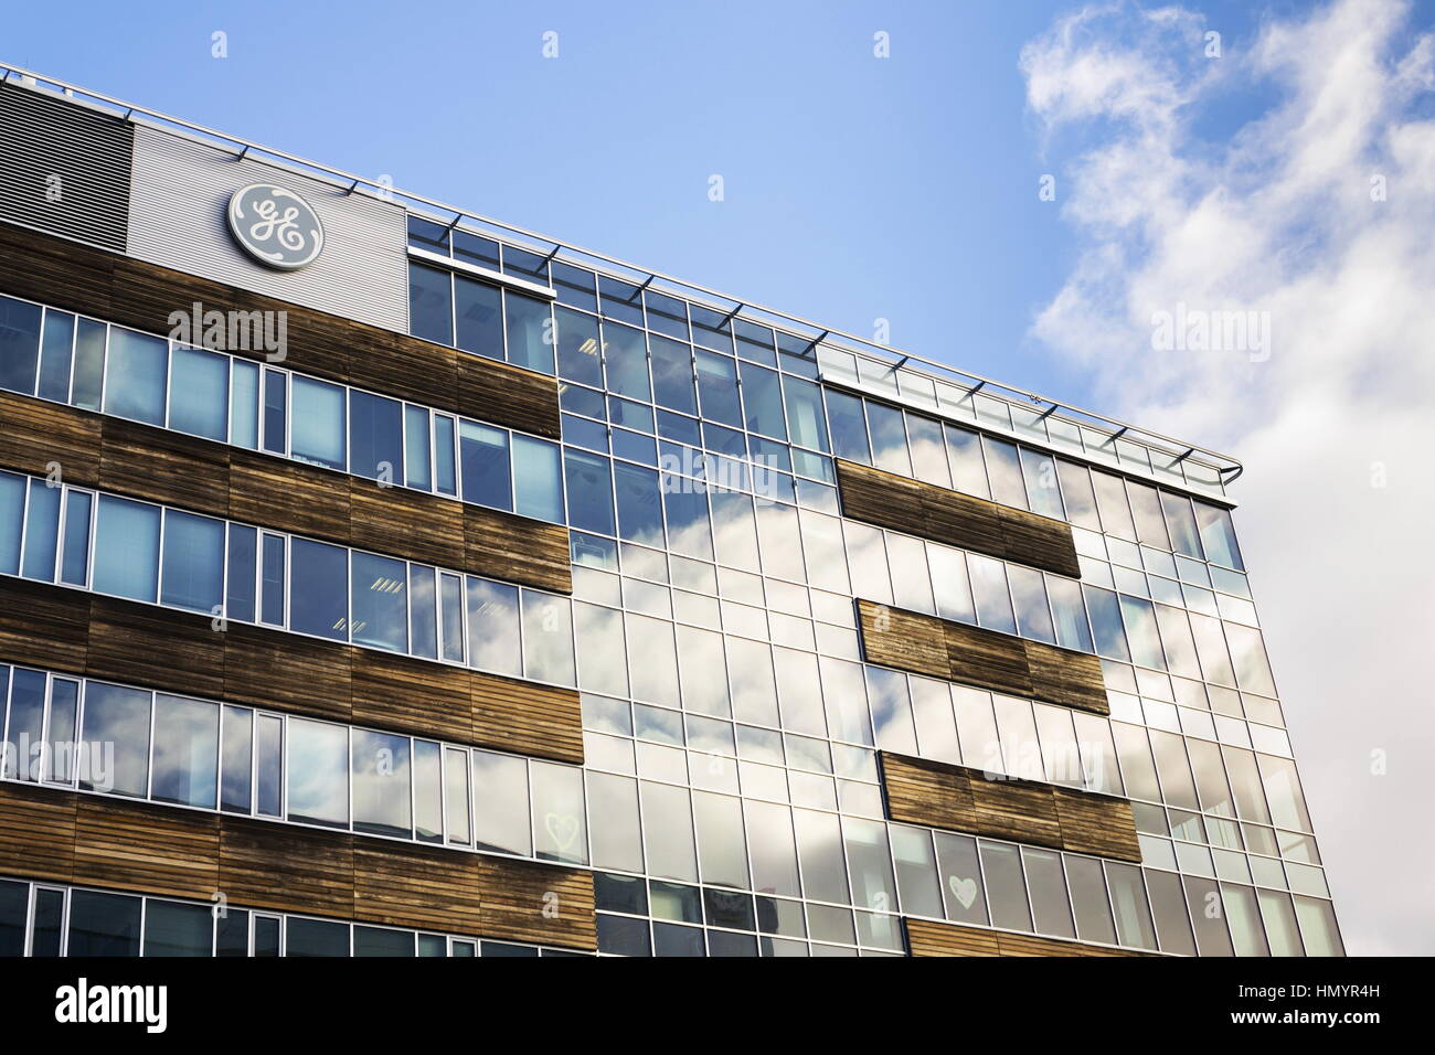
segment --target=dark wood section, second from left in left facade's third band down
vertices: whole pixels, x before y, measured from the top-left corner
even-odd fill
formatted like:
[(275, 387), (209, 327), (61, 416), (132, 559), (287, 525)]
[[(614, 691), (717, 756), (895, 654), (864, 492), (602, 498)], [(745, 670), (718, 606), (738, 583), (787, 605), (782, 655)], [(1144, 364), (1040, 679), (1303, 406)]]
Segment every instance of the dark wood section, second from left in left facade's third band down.
[(89, 607), (85, 672), (92, 677), (224, 695), (225, 634), (210, 617), (98, 596), (90, 596)]

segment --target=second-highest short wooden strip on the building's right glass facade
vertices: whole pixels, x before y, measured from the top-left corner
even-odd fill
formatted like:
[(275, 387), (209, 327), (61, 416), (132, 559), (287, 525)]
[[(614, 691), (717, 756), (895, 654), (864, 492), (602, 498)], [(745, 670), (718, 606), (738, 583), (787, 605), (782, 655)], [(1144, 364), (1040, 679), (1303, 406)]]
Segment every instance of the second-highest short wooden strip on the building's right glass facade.
[(857, 601), (868, 663), (1109, 715), (1101, 660), (1012, 634)]

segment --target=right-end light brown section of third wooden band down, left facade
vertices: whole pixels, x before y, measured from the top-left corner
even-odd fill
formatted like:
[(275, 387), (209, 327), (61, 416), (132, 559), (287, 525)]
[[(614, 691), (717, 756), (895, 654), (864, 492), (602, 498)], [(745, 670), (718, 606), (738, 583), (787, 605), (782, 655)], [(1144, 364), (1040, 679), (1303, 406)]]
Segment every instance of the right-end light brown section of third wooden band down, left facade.
[(573, 689), (474, 672), (469, 702), (474, 744), (583, 762), (583, 709)]

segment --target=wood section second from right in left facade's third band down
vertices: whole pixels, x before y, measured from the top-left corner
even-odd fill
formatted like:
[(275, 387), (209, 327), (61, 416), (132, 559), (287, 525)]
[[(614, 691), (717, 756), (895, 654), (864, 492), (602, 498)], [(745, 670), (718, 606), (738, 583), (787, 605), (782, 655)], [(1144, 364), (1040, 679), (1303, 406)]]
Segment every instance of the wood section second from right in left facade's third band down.
[(354, 649), (352, 669), (356, 723), (471, 742), (471, 672), (366, 649)]

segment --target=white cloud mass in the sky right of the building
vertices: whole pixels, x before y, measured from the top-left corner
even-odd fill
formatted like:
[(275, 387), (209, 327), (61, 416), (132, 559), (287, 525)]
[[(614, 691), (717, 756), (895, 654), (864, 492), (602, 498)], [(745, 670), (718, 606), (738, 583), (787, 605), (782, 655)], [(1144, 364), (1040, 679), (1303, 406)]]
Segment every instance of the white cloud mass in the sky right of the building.
[[(1081, 142), (1059, 158), (1079, 253), (1033, 336), (1101, 406), (1246, 462), (1237, 525), (1347, 946), (1429, 953), (1435, 39), (1395, 0), (1269, 20), (1220, 59), (1207, 29), (1091, 7), (1023, 50), (1045, 141)], [(1241, 99), (1266, 109), (1211, 142), (1203, 116)], [(1151, 350), (1181, 303), (1269, 313), (1270, 357)]]

